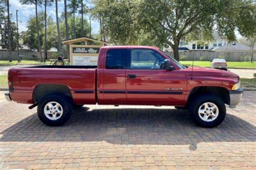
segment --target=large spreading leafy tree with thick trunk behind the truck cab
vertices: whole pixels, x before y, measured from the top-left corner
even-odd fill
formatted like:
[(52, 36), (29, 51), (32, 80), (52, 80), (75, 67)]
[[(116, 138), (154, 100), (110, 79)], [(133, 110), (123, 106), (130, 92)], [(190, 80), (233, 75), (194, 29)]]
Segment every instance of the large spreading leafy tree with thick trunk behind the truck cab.
[[(153, 43), (173, 49), (179, 60), (181, 39), (212, 39), (219, 35), (234, 40), (234, 30), (254, 17), (253, 5), (243, 0), (191, 1), (93, 1), (96, 18), (104, 20), (107, 35), (116, 44), (137, 44), (140, 33), (153, 38)], [(243, 18), (247, 10), (247, 17)], [(254, 27), (255, 28), (255, 27)], [(250, 28), (252, 29), (252, 28)]]

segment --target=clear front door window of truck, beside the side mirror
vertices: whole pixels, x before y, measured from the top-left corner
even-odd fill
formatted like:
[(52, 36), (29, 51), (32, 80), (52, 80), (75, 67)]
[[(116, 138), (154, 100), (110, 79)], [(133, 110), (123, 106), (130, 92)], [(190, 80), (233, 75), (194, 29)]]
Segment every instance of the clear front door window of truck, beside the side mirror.
[(164, 58), (149, 49), (133, 49), (130, 58), (131, 69), (161, 69), (164, 64)]

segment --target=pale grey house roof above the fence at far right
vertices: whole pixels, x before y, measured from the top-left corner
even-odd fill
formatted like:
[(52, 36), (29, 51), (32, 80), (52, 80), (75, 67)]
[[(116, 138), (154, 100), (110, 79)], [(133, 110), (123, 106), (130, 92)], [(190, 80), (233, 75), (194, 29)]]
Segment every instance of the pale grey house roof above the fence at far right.
[[(249, 51), (250, 47), (241, 43), (235, 43), (235, 44), (225, 44), (220, 47), (216, 47), (214, 49), (211, 49), (211, 51)], [(256, 46), (254, 47), (254, 50), (256, 50)]]

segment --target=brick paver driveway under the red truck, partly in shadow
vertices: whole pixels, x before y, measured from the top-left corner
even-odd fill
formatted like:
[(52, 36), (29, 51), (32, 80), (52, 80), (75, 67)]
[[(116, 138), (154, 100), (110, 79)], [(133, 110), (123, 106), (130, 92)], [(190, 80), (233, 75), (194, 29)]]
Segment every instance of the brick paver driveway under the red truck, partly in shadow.
[(87, 106), (62, 127), (0, 104), (0, 168), (256, 168), (256, 92), (217, 128), (173, 107)]

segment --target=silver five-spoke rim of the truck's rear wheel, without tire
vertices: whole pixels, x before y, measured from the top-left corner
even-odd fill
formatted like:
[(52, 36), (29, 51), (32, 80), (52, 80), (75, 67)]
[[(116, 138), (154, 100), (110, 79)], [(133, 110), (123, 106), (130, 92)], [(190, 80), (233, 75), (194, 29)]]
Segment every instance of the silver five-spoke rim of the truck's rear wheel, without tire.
[(63, 108), (56, 101), (51, 101), (44, 106), (44, 114), (50, 120), (58, 120), (62, 117)]

